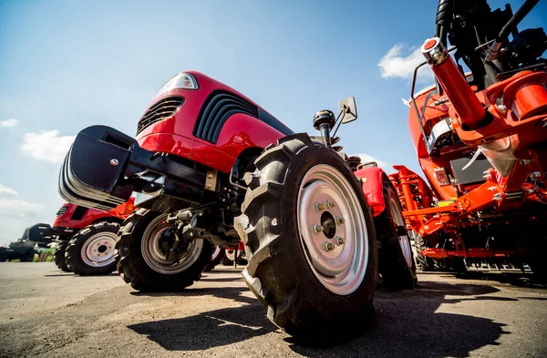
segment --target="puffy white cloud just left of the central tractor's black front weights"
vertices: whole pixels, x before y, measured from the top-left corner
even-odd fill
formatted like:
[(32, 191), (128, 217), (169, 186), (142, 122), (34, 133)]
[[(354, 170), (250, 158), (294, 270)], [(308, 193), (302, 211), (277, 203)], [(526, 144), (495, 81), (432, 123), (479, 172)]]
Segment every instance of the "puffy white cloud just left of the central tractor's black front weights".
[(62, 163), (76, 136), (59, 136), (58, 130), (26, 133), (23, 151), (29, 156), (51, 163)]

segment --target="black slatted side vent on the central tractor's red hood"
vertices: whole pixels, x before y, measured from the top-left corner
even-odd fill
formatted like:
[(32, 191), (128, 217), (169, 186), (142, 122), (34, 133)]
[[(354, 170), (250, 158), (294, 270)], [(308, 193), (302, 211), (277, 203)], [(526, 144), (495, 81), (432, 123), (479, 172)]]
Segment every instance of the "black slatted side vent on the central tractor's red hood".
[(216, 143), (222, 126), (230, 116), (236, 113), (244, 113), (258, 118), (258, 107), (230, 92), (214, 91), (201, 107), (194, 135), (197, 138)]

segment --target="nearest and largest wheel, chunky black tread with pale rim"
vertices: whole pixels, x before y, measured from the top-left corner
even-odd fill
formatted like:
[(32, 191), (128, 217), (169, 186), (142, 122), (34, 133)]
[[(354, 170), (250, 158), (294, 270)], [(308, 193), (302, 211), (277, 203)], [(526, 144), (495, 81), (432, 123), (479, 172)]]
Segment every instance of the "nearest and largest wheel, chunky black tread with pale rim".
[[(247, 286), (289, 334), (325, 341), (360, 332), (374, 316), (377, 281), (376, 233), (360, 183), (306, 134), (280, 139), (255, 165), (235, 220)], [(316, 210), (319, 202), (327, 209)]]

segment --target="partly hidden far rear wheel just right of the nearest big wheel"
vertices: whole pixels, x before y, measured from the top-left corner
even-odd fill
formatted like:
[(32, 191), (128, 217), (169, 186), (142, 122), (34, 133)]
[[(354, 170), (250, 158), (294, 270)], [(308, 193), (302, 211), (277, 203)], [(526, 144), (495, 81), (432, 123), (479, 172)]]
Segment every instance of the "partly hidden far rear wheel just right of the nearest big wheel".
[(412, 290), (418, 276), (403, 210), (393, 184), (384, 182), (383, 190), (386, 209), (374, 219), (380, 241), (378, 271), (382, 285), (388, 290)]

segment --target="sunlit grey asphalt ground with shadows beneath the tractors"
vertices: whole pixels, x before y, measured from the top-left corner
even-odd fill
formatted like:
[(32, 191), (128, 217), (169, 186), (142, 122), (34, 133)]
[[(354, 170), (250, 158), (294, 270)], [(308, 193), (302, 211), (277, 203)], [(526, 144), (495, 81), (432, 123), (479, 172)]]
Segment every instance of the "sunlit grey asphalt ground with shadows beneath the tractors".
[(142, 294), (117, 274), (2, 262), (0, 356), (547, 357), (547, 287), (531, 277), (420, 273), (415, 291), (377, 291), (366, 332), (325, 347), (269, 322), (232, 268), (205, 273), (186, 292)]

